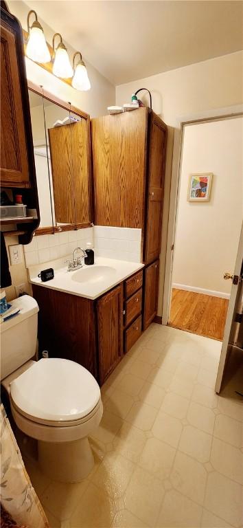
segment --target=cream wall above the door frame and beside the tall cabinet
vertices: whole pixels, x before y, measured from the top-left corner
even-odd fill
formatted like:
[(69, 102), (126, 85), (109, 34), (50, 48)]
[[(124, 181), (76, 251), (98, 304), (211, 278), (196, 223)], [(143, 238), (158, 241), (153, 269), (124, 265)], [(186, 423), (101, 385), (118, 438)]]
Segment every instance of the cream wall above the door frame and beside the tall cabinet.
[[(152, 107), (169, 125), (167, 166), (165, 172), (165, 202), (163, 208), (163, 230), (161, 244), (161, 265), (159, 280), (158, 315), (162, 315), (163, 287), (165, 275), (165, 254), (167, 225), (170, 207), (171, 164), (173, 133), (171, 127), (178, 126), (178, 120), (198, 118), (224, 107), (243, 103), (243, 52), (224, 55), (209, 61), (170, 70), (147, 78), (116, 87), (116, 104), (130, 101), (133, 91), (148, 88), (152, 92)], [(145, 92), (141, 96), (148, 101)]]

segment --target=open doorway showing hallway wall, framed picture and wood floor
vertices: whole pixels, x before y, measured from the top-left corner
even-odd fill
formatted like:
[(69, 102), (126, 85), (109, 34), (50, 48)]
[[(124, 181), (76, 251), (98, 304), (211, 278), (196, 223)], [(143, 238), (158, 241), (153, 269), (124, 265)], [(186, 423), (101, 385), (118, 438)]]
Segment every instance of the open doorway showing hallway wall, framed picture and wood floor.
[(168, 325), (222, 340), (242, 223), (241, 115), (182, 126)]

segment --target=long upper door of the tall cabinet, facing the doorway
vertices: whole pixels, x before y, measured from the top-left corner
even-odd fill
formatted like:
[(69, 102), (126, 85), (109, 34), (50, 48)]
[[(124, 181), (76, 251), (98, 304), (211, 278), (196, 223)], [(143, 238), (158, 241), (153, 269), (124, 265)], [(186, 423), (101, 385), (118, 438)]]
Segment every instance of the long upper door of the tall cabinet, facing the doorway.
[(165, 179), (165, 155), (167, 144), (166, 125), (153, 112), (150, 116), (150, 120), (148, 206), (144, 255), (144, 261), (146, 263), (157, 259), (161, 250), (163, 188)]

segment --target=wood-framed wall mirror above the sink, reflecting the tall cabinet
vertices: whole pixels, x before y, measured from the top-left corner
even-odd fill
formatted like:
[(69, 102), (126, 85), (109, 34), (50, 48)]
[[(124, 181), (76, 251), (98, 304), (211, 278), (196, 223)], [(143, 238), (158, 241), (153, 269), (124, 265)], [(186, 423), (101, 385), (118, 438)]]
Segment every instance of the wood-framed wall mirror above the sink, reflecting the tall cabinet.
[(29, 85), (40, 205), (36, 234), (92, 223), (89, 115)]

